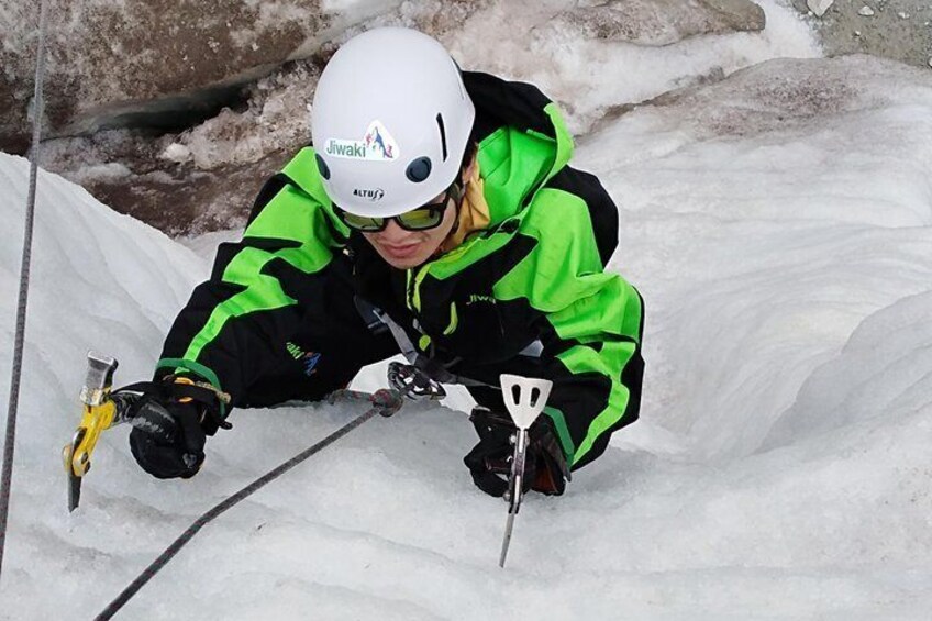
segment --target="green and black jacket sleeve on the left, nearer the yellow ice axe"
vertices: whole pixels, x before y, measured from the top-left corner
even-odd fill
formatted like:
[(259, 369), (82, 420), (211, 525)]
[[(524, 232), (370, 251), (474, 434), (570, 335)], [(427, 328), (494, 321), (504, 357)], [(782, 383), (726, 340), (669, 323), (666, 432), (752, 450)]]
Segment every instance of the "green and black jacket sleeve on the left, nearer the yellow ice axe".
[(289, 175), (312, 162), (307, 148), (273, 177), (242, 240), (218, 248), (210, 279), (195, 289), (165, 340), (156, 376), (197, 374), (236, 406), (263, 370), (281, 359), (301, 321), (298, 298), (322, 287), (322, 271), (344, 236), (330, 206)]

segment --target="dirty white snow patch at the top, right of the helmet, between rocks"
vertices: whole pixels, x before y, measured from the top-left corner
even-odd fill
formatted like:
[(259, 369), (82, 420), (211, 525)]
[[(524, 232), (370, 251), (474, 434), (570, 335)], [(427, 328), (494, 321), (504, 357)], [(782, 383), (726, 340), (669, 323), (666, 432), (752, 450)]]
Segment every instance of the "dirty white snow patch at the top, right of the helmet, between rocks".
[(812, 31), (792, 8), (780, 0), (756, 3), (766, 14), (763, 32), (696, 36), (659, 47), (587, 38), (552, 20), (567, 9), (564, 0), (496, 2), (442, 41), (464, 68), (539, 85), (566, 109), (570, 130), (581, 134), (619, 103), (645, 101), (770, 58), (821, 56)]

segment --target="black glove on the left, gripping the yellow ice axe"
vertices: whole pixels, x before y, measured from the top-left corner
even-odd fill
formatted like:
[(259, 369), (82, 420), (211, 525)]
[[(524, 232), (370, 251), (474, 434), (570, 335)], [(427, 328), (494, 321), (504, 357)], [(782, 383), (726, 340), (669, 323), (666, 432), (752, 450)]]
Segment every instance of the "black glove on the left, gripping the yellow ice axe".
[[(127, 389), (137, 387), (144, 391), (134, 396), (129, 412), (133, 457), (154, 477), (191, 478), (203, 464), (207, 436), (218, 426), (230, 426), (220, 419), (219, 402), (207, 389), (196, 391), (197, 387), (175, 384), (175, 378)], [(191, 393), (196, 398), (186, 396)]]

